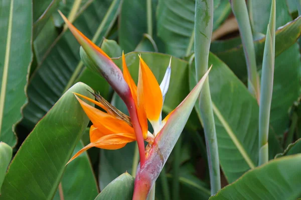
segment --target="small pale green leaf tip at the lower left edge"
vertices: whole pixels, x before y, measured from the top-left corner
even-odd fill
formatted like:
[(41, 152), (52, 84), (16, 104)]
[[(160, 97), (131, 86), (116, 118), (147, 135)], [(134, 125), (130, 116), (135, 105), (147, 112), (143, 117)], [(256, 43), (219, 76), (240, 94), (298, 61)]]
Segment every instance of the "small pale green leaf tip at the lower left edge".
[(13, 149), (8, 144), (0, 142), (0, 195), (7, 168), (13, 156)]

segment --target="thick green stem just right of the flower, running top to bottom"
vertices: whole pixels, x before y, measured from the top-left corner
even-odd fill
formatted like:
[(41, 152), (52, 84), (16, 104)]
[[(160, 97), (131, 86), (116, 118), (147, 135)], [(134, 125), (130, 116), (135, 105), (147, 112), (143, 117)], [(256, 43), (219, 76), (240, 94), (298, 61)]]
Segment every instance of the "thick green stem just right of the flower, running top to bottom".
[[(209, 49), (213, 28), (213, 0), (197, 0), (195, 12), (195, 64), (198, 80), (208, 70)], [(221, 188), (219, 155), (208, 78), (200, 94), (200, 112), (204, 124), (211, 194)]]

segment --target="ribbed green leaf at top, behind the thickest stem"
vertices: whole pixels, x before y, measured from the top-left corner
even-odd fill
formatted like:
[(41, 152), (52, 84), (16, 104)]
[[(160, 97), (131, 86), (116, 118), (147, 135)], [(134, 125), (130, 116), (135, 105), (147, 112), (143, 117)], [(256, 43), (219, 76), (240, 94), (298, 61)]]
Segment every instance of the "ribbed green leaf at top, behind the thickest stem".
[[(219, 1), (214, 1), (217, 7)], [(230, 3), (221, 1), (214, 12), (214, 29), (230, 13)], [(164, 0), (158, 5), (158, 36), (163, 40), (166, 53), (178, 57), (189, 55), (193, 49), (195, 0)]]

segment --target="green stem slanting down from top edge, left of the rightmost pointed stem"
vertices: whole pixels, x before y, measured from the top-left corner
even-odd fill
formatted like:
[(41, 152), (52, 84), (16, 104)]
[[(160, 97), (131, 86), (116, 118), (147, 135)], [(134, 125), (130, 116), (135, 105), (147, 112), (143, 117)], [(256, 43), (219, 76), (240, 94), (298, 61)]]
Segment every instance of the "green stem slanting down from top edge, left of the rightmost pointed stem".
[(237, 20), (243, 51), (248, 70), (248, 89), (256, 97), (259, 104), (260, 85), (256, 67), (255, 48), (253, 35), (245, 1), (231, 0), (233, 14)]

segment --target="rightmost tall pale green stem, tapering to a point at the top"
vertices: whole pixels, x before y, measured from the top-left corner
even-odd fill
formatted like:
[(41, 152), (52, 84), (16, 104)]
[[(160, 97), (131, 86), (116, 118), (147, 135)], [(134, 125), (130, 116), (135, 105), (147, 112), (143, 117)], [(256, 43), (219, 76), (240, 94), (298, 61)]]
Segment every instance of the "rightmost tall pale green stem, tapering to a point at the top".
[(263, 51), (261, 89), (259, 104), (259, 163), (268, 161), (268, 129), (270, 108), (273, 92), (274, 63), (275, 63), (275, 10), (276, 3), (272, 0), (269, 24)]

